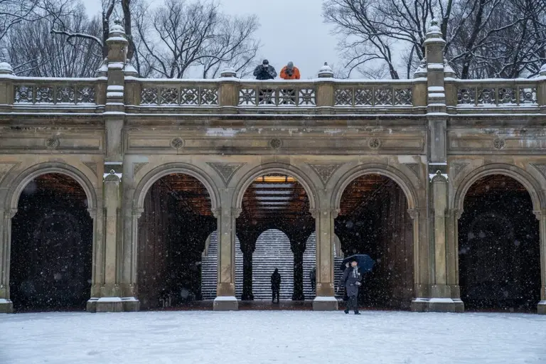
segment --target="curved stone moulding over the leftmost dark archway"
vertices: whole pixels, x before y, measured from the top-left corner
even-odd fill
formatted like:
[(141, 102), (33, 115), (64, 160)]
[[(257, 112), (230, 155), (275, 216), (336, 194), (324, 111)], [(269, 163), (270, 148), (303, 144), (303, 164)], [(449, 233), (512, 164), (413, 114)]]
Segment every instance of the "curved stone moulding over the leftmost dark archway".
[(95, 219), (97, 212), (97, 193), (95, 187), (91, 183), (90, 179), (85, 176), (85, 173), (62, 162), (45, 162), (42, 164), (36, 164), (27, 168), (23, 173), (15, 178), (9, 188), (8, 198), (6, 199), (6, 210), (11, 210), (11, 215), (15, 215), (17, 212), (17, 205), (21, 193), (25, 189), (26, 185), (30, 183), (34, 178), (42, 176), (47, 173), (61, 173), (73, 178), (85, 191), (87, 196), (87, 210), (90, 213), (92, 219)]

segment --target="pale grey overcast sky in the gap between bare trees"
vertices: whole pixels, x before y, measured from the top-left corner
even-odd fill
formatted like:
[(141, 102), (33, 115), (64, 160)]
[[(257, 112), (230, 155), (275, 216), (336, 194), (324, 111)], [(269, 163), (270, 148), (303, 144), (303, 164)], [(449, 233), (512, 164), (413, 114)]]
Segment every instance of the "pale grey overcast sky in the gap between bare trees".
[[(83, 0), (90, 15), (100, 14), (100, 0)], [(339, 63), (336, 37), (323, 23), (321, 0), (218, 0), (227, 14), (256, 14), (262, 25), (260, 58), (280, 72), (289, 60), (299, 68), (301, 78), (315, 77), (319, 68)]]

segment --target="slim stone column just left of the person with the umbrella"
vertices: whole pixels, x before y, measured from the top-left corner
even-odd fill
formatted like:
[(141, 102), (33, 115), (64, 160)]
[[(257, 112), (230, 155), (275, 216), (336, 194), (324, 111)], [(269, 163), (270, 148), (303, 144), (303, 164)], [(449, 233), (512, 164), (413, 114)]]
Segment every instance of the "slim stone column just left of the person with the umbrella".
[(338, 300), (333, 291), (333, 220), (338, 210), (317, 208), (311, 210), (316, 224), (316, 297), (315, 311), (335, 311)]

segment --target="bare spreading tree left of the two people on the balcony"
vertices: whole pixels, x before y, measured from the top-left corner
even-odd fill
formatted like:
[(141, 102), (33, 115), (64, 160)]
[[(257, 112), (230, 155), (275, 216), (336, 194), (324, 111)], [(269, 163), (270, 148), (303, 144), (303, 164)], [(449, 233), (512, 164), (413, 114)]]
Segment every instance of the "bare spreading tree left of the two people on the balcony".
[(202, 67), (203, 77), (225, 65), (244, 70), (259, 48), (257, 18), (230, 18), (213, 1), (165, 0), (155, 9), (144, 4), (134, 24), (138, 67), (159, 77), (182, 78), (193, 67)]

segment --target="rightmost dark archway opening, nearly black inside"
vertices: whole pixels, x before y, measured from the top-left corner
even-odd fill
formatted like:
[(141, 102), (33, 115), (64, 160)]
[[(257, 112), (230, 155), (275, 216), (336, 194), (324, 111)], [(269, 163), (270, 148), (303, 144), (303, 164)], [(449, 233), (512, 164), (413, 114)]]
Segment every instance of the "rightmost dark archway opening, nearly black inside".
[(536, 311), (540, 230), (532, 200), (515, 179), (478, 179), (459, 219), (459, 284), (469, 310)]

